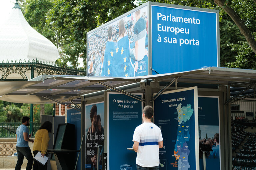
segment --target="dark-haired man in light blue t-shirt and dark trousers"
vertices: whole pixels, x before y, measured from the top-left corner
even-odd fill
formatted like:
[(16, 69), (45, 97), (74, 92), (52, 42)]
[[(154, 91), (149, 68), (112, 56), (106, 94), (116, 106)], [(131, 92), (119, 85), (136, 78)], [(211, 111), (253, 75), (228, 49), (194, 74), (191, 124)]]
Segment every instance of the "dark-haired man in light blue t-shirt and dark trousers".
[(24, 116), (22, 118), (22, 125), (20, 125), (16, 130), (16, 150), (18, 152), (18, 160), (15, 166), (15, 170), (20, 170), (20, 167), (23, 163), (24, 156), (28, 160), (26, 170), (31, 170), (34, 158), (32, 156), (31, 150), (28, 146), (28, 142), (34, 143), (33, 139), (29, 139), (31, 134), (28, 132), (27, 126), (29, 126), (29, 117)]

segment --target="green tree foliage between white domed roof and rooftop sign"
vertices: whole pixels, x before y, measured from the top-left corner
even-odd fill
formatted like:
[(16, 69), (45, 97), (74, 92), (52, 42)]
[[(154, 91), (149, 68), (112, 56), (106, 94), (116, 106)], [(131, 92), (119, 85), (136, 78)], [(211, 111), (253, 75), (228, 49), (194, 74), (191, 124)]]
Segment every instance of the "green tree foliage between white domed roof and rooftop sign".
[[(24, 1), (24, 0), (23, 0)], [(136, 6), (134, 0), (26, 0), (24, 17), (59, 49), (59, 66), (86, 65), (86, 33)]]

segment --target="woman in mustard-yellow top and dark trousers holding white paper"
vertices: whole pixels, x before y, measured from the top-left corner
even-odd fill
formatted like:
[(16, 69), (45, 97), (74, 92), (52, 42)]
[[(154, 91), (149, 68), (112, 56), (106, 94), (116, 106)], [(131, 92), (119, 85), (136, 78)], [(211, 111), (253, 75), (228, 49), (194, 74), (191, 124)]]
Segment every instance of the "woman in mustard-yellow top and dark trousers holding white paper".
[[(41, 152), (41, 156), (47, 156), (46, 152), (48, 148), (48, 142), (50, 140), (50, 132), (52, 132), (52, 123), (49, 121), (44, 122), (39, 130), (37, 130), (33, 146), (34, 157), (38, 151)], [(37, 161), (34, 161), (33, 170), (47, 170), (47, 162), (45, 165), (42, 165)]]

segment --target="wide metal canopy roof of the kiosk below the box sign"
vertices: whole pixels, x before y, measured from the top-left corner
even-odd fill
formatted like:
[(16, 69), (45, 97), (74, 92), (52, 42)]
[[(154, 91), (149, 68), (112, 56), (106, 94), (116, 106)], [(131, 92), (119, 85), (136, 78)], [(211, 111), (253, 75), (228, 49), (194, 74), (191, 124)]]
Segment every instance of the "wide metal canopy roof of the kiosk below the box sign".
[(83, 77), (41, 75), (29, 81), (0, 81), (0, 100), (16, 103), (54, 103), (44, 97), (61, 102), (79, 98), (81, 95), (131, 85), (139, 82), (161, 81), (231, 85), (234, 87), (255, 88), (256, 70), (207, 67), (192, 71), (148, 75), (140, 77)]

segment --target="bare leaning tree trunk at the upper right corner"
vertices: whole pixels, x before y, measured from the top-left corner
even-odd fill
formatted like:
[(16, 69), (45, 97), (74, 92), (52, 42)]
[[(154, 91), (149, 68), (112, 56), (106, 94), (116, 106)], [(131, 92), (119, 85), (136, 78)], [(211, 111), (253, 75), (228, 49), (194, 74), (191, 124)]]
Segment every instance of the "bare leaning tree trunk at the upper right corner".
[[(214, 3), (219, 5), (235, 22), (237, 27), (239, 28), (241, 34), (245, 37), (246, 41), (251, 46), (253, 52), (256, 54), (256, 41), (254, 40), (251, 31), (246, 27), (243, 21), (239, 18), (236, 12), (230, 7), (224, 7), (224, 0), (214, 0)], [(254, 0), (256, 2), (256, 0)]]

